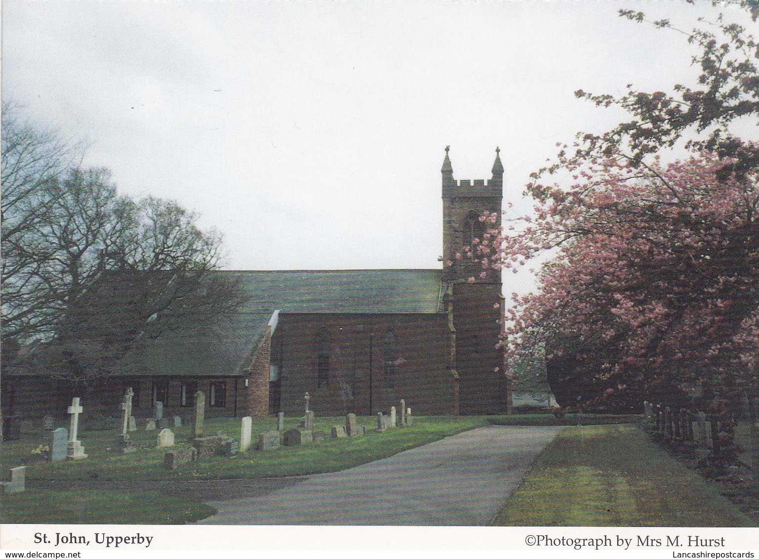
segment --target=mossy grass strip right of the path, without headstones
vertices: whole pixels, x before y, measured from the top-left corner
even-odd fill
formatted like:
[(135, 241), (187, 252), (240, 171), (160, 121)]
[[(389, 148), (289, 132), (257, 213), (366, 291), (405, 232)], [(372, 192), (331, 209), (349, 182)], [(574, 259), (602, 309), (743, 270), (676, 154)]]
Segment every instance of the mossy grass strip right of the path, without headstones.
[(757, 526), (631, 425), (566, 427), (497, 526)]

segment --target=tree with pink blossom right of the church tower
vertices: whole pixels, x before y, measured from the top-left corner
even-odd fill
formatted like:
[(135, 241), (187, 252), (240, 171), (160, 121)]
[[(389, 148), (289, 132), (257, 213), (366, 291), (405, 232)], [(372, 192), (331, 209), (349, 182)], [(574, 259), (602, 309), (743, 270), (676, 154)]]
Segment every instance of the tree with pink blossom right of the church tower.
[[(742, 6), (756, 20), (755, 2)], [(502, 344), (520, 359), (544, 348), (563, 406), (688, 402), (729, 423), (742, 397), (759, 396), (759, 143), (730, 127), (757, 124), (759, 44), (722, 17), (685, 35), (700, 49), (698, 86), (576, 92), (632, 118), (558, 145), (527, 185), (533, 215), (462, 255), (487, 274), (553, 251), (539, 292), (513, 296)], [(660, 159), (676, 159), (672, 148), (685, 158)]]

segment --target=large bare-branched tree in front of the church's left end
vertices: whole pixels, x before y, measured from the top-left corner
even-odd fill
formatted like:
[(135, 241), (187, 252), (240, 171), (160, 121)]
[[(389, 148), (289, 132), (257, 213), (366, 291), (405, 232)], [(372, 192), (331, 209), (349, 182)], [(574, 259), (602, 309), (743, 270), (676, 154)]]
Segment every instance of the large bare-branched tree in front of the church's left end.
[(19, 171), (8, 174), (14, 199), (3, 209), (13, 257), (2, 284), (6, 368), (74, 382), (126, 374), (150, 340), (210, 330), (241, 303), (215, 272), (221, 236), (200, 231), (196, 214), (118, 196), (106, 169), (65, 168), (54, 137), (27, 136), (26, 148), (8, 144)]

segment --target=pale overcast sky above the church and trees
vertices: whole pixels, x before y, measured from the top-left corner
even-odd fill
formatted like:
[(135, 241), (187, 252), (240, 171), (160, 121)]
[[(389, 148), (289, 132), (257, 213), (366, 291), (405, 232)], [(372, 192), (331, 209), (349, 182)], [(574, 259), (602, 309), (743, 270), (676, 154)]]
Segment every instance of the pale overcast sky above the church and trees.
[[(5, 99), (118, 189), (177, 199), (228, 269), (437, 268), (440, 165), (524, 208), (531, 171), (621, 115), (575, 99), (692, 83), (707, 2), (4, 0)], [(671, 12), (671, 14), (670, 14)], [(526, 206), (529, 207), (529, 206)], [(510, 281), (511, 278), (505, 278)], [(505, 291), (524, 290), (522, 280)], [(512, 289), (513, 287), (513, 289)]]

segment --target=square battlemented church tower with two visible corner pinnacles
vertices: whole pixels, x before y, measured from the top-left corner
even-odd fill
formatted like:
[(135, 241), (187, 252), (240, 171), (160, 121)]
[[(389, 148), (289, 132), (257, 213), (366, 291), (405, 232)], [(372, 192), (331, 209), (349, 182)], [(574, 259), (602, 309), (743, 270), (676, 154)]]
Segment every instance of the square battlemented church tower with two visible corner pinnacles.
[[(456, 181), (449, 159), (442, 162), (442, 245), (446, 305), (451, 329), (451, 368), (458, 385), (458, 413), (505, 413), (508, 380), (503, 351), (496, 348), (503, 319), (501, 272), (483, 267), (477, 243), (501, 225), (503, 165), (496, 148), (493, 177)], [(496, 215), (495, 223), (480, 221)], [(468, 257), (465, 247), (475, 256)], [(457, 255), (458, 256), (457, 258)], [(449, 262), (451, 264), (449, 265)], [(483, 274), (484, 272), (484, 274)], [(474, 281), (472, 280), (474, 278)]]

